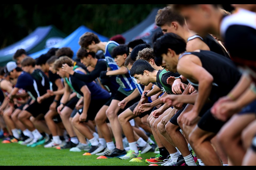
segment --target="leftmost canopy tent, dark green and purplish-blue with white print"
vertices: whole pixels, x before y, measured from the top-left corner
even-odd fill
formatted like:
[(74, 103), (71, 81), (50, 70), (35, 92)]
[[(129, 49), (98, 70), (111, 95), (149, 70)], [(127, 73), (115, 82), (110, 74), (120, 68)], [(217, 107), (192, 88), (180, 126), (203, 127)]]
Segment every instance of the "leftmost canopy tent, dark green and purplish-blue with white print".
[(27, 37), (0, 50), (0, 65), (13, 61), (13, 55), (18, 49), (24, 49), (28, 54), (49, 48), (59, 43), (66, 35), (55, 26), (38, 27)]

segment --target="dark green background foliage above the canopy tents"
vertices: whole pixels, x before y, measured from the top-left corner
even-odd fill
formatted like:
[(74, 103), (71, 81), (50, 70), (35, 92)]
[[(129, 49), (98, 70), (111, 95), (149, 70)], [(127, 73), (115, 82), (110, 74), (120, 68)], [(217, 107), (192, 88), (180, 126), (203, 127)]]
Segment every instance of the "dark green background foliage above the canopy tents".
[[(154, 7), (168, 4), (0, 4), (0, 49), (39, 26), (55, 25), (69, 35), (81, 25), (111, 37), (134, 27)], [(231, 10), (230, 5), (223, 5)]]

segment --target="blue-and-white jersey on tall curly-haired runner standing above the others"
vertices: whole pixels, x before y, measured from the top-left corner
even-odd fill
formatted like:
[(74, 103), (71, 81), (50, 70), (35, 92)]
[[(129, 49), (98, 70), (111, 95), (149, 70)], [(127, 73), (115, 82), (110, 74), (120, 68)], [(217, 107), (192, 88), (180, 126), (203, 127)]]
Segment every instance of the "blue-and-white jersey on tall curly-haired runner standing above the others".
[(105, 47), (105, 53), (104, 53), (105, 60), (107, 62), (107, 65), (110, 67), (110, 69), (112, 71), (119, 69), (117, 63), (115, 62), (114, 58), (111, 55), (113, 49), (117, 46), (119, 46), (119, 44), (117, 42), (109, 41), (109, 42), (107, 42), (106, 47)]

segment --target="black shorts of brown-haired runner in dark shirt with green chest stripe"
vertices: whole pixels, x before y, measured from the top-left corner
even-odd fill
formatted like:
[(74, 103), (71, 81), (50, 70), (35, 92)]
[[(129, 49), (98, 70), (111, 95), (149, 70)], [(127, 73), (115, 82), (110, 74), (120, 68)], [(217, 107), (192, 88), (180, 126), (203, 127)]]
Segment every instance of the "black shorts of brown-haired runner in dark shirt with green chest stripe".
[[(98, 99), (98, 100), (91, 100), (89, 109), (87, 111), (87, 120), (94, 120), (96, 114), (99, 112), (99, 110), (102, 108), (102, 106), (105, 105), (105, 103), (109, 99)], [(82, 114), (83, 109), (80, 109), (78, 111), (79, 114)]]

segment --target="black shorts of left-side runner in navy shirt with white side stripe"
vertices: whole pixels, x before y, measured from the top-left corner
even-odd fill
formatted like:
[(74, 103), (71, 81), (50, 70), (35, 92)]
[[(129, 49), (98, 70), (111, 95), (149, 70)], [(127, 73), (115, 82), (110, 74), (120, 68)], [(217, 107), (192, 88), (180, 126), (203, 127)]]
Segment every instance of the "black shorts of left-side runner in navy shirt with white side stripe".
[(50, 105), (53, 103), (55, 96), (49, 97), (48, 99), (44, 100), (41, 104), (35, 101), (33, 104), (29, 105), (25, 109), (25, 111), (32, 114), (32, 116), (37, 117), (39, 114), (46, 114), (49, 111)]

